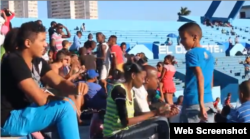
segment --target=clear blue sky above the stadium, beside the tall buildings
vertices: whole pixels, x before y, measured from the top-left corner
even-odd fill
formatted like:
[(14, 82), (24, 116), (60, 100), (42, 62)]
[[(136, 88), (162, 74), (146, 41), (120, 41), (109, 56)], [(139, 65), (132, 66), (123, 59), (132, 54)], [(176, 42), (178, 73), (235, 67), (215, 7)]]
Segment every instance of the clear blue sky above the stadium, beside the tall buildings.
[[(222, 1), (214, 17), (227, 17), (235, 1)], [(99, 19), (174, 21), (181, 7), (203, 16), (211, 1), (98, 1)], [(244, 5), (250, 5), (246, 1)], [(38, 1), (38, 18), (47, 18), (47, 1)]]

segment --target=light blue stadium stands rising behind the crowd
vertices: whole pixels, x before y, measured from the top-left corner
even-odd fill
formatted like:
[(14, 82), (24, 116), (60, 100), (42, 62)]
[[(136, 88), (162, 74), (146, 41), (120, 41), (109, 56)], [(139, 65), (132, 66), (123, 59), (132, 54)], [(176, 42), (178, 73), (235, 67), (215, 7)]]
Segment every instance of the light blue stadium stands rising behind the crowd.
[[(201, 23), (201, 17), (187, 16), (187, 21), (195, 21)], [(34, 21), (32, 18), (14, 18), (12, 20), (13, 27), (20, 26), (21, 23)], [(185, 50), (178, 45), (177, 38), (171, 38), (172, 45), (166, 46), (165, 41), (170, 33), (178, 36), (178, 28), (185, 22), (165, 22), (165, 21), (113, 21), (113, 20), (80, 20), (80, 19), (42, 19), (43, 24), (48, 29), (51, 21), (64, 24), (70, 30), (73, 41), (74, 34), (80, 28), (82, 23), (85, 23), (86, 31), (83, 32), (81, 41), (87, 40), (87, 35), (92, 33), (95, 40), (96, 32), (103, 32), (108, 38), (110, 35), (118, 37), (118, 44), (126, 42), (128, 45), (128, 53), (144, 52), (149, 58), (149, 64), (155, 66), (159, 60), (162, 60), (166, 54), (172, 54), (178, 61), (177, 73), (174, 78), (177, 90), (183, 90), (185, 79)], [(221, 86), (221, 98), (224, 98), (228, 92), (233, 94), (232, 101), (237, 100), (238, 84), (244, 80), (244, 68), (239, 64), (239, 61), (245, 59), (244, 56), (234, 56), (238, 51), (248, 47), (250, 44), (249, 31), (246, 27), (248, 20), (235, 19), (233, 21), (234, 31), (239, 35), (240, 43), (237, 47), (231, 50), (230, 57), (226, 57), (226, 50), (229, 48), (228, 39), (234, 44), (235, 35), (230, 33), (223, 34), (222, 29), (230, 32), (229, 27), (209, 27), (200, 24), (203, 32), (201, 44), (210, 49), (214, 54), (215, 61), (215, 76), (214, 84)], [(49, 38), (47, 37), (47, 41)], [(227, 80), (225, 80), (227, 79)]]

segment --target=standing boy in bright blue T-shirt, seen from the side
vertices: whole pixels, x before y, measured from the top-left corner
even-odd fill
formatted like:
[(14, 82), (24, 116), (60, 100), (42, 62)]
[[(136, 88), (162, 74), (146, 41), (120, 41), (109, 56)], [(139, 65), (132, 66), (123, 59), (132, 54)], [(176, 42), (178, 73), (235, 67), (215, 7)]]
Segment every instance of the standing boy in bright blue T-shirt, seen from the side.
[(214, 122), (213, 71), (214, 58), (202, 48), (202, 31), (196, 23), (186, 23), (179, 28), (181, 43), (186, 53), (186, 80), (181, 122)]

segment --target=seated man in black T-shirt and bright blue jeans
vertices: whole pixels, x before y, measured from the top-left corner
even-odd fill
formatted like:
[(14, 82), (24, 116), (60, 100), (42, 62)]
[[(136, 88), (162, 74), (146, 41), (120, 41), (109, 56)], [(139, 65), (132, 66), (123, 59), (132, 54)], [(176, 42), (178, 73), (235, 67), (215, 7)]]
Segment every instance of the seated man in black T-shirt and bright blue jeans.
[[(57, 126), (60, 138), (79, 139), (76, 107), (71, 104), (72, 100), (52, 96), (42, 90), (38, 86), (38, 82), (41, 82), (38, 78), (69, 97), (69, 92), (73, 95), (84, 95), (87, 92), (86, 84), (81, 83), (76, 87), (54, 74), (46, 61), (39, 58), (42, 57), (42, 50), (46, 46), (45, 27), (35, 22), (27, 22), (21, 25), (17, 36), (19, 51), (10, 53), (0, 68), (1, 134), (23, 136)], [(29, 43), (26, 43), (27, 40), (30, 40)], [(39, 67), (42, 67), (41, 72)], [(34, 76), (34, 72), (40, 74)]]

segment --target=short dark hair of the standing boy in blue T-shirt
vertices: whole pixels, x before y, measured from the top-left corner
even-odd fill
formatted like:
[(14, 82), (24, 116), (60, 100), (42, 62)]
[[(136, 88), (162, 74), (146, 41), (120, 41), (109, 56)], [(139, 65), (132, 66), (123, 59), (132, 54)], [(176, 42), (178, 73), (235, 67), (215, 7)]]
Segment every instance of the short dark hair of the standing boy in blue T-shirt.
[(197, 34), (199, 39), (202, 38), (202, 30), (201, 27), (195, 22), (189, 22), (182, 25), (179, 29), (179, 32), (188, 32), (191, 35)]

